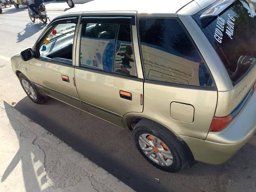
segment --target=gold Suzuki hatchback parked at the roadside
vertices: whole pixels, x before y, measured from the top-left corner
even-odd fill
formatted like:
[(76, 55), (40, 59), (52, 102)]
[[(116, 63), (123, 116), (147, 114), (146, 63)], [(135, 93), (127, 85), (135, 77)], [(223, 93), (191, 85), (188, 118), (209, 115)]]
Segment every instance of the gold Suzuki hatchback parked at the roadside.
[(12, 69), (35, 103), (52, 97), (131, 129), (159, 169), (221, 164), (256, 129), (255, 10), (249, 0), (92, 1), (52, 20)]

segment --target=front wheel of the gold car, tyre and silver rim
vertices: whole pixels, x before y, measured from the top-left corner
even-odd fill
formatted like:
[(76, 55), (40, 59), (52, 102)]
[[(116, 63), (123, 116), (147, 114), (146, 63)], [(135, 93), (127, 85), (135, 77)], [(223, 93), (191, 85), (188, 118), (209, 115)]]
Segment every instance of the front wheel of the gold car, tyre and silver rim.
[(28, 95), (29, 99), (31, 99), (33, 102), (37, 104), (43, 104), (47, 98), (42, 96), (36, 89), (36, 86), (32, 84), (28, 78), (20, 73), (19, 75), (20, 84), (23, 88), (23, 90)]

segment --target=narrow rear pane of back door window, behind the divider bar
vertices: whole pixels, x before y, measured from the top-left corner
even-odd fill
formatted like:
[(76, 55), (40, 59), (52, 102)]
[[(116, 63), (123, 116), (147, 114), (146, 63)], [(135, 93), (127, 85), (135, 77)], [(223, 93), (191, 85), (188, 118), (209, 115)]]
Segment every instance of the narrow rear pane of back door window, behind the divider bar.
[(120, 25), (119, 27), (116, 45), (115, 72), (137, 76), (130, 25)]

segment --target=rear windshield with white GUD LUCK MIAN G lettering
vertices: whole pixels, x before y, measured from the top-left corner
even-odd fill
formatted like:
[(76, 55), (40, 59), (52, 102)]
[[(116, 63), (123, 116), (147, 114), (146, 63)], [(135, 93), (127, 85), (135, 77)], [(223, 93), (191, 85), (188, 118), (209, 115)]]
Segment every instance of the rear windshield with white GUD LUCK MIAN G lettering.
[(193, 15), (193, 18), (219, 55), (235, 85), (255, 65), (256, 7), (250, 1), (237, 0), (219, 15), (207, 18), (205, 23), (200, 16), (209, 7)]

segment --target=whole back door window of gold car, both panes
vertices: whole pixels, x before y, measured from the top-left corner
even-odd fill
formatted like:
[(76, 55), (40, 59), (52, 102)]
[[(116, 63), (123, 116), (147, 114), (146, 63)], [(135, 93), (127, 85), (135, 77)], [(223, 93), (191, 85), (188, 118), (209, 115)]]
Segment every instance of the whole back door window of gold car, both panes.
[(80, 66), (137, 76), (131, 25), (84, 23), (81, 31)]

